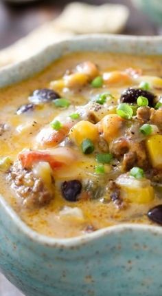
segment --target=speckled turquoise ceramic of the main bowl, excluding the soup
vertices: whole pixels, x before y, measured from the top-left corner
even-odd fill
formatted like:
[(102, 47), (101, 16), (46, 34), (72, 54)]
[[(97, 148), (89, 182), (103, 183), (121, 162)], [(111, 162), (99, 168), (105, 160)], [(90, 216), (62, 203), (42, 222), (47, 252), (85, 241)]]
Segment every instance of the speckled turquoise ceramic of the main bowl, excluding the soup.
[[(1, 87), (67, 52), (162, 54), (160, 37), (83, 36), (0, 71)], [(0, 267), (26, 296), (161, 296), (162, 229), (121, 224), (71, 239), (39, 235), (0, 197)]]

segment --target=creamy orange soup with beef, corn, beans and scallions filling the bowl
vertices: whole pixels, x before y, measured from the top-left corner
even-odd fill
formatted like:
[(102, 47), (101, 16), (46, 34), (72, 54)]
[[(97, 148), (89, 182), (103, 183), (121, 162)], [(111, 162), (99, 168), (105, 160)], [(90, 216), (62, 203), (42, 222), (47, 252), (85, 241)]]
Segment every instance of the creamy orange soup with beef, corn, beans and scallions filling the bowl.
[(0, 90), (0, 193), (34, 231), (162, 224), (162, 57), (84, 52)]

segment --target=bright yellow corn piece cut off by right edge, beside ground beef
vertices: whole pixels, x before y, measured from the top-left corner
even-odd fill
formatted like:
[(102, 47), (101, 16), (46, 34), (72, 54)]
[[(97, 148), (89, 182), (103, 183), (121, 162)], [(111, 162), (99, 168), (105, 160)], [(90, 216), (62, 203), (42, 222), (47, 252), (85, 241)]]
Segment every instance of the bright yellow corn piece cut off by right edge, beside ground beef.
[(152, 167), (162, 168), (162, 136), (154, 135), (150, 136), (146, 140), (146, 146), (148, 148), (148, 154), (152, 162)]

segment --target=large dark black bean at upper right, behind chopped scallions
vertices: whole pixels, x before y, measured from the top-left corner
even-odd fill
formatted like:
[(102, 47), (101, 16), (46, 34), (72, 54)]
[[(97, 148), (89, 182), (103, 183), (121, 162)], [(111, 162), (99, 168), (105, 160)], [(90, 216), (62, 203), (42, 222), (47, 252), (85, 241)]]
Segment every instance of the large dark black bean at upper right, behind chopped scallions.
[(145, 96), (148, 98), (148, 105), (150, 107), (154, 107), (154, 94), (152, 92), (148, 92), (148, 90), (143, 90), (140, 88), (128, 88), (124, 90), (120, 97), (120, 102), (122, 103), (137, 103), (137, 98), (139, 96)]

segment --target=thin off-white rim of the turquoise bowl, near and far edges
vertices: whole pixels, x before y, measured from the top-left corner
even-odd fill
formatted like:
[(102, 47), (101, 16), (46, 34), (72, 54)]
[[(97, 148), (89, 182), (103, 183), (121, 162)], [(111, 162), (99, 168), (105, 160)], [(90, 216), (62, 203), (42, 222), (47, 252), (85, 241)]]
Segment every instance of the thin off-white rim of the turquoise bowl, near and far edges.
[[(105, 39), (106, 41), (117, 41), (117, 42), (133, 42), (133, 43), (140, 43), (141, 45), (148, 45), (149, 43), (153, 43), (154, 46), (161, 47), (161, 53), (162, 55), (162, 36), (126, 36), (126, 35), (106, 35), (106, 34), (94, 34), (94, 35), (85, 35), (85, 36), (78, 36), (75, 38), (70, 38), (65, 41), (61, 41), (59, 43), (54, 43), (52, 45), (49, 45), (45, 47), (43, 50), (40, 50), (37, 54), (34, 56), (21, 61), (19, 63), (14, 63), (13, 65), (9, 65), (6, 67), (3, 67), (0, 70), (0, 80), (3, 74), (8, 75), (13, 70), (20, 70), (22, 67), (26, 67), (28, 63), (31, 63), (32, 59), (39, 60), (43, 54), (48, 50), (48, 48), (55, 48), (62, 45), (63, 47), (67, 46), (69, 43), (77, 43), (82, 41), (88, 41), (89, 39), (97, 42), (99, 40)], [(75, 51), (74, 51), (75, 52)], [(124, 51), (123, 51), (124, 52)], [(63, 56), (62, 54), (61, 56)], [(45, 68), (45, 67), (44, 67)], [(25, 236), (27, 236), (31, 241), (37, 242), (38, 244), (42, 244), (44, 246), (50, 246), (50, 247), (58, 247), (58, 248), (71, 248), (75, 246), (81, 246), (84, 244), (87, 244), (93, 240), (100, 239), (101, 237), (122, 233), (125, 231), (144, 231), (148, 233), (152, 233), (153, 235), (162, 235), (162, 228), (161, 226), (157, 225), (148, 225), (148, 224), (130, 224), (130, 223), (124, 223), (124, 224), (117, 224), (113, 226), (107, 226), (103, 229), (99, 229), (97, 231), (94, 231), (93, 233), (86, 233), (80, 236), (76, 237), (69, 237), (69, 238), (56, 238), (56, 237), (49, 237), (47, 235), (42, 235), (30, 228), (30, 226), (27, 226), (23, 220), (19, 217), (19, 215), (12, 209), (10, 204), (3, 198), (2, 195), (0, 195), (0, 206), (2, 207), (2, 211), (4, 210), (7, 215), (9, 215), (10, 219), (16, 224), (17, 229), (21, 231)]]

